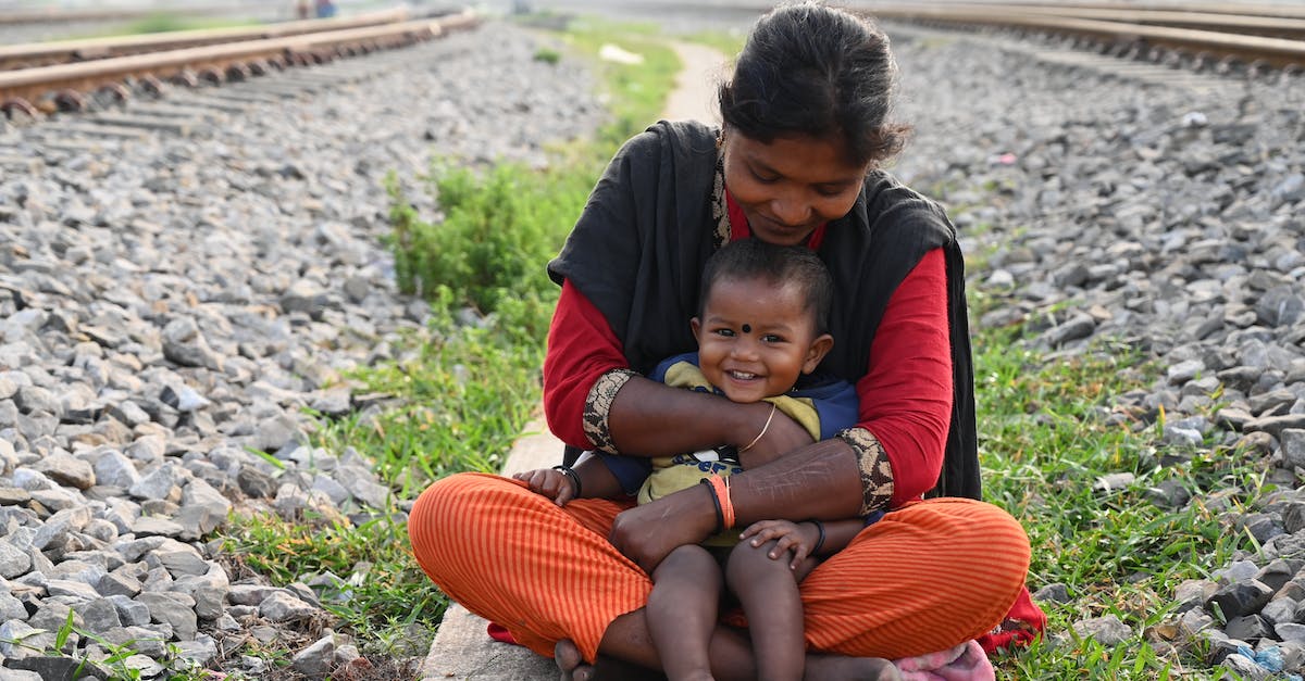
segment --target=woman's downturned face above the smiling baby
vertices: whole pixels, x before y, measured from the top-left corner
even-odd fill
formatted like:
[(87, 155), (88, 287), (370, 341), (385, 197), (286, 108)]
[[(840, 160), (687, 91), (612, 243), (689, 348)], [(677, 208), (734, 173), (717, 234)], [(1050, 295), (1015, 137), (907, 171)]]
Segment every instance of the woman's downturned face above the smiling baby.
[(727, 130), (724, 155), (726, 187), (753, 236), (779, 245), (805, 243), (852, 210), (869, 170), (850, 164), (837, 140), (804, 134), (763, 144)]

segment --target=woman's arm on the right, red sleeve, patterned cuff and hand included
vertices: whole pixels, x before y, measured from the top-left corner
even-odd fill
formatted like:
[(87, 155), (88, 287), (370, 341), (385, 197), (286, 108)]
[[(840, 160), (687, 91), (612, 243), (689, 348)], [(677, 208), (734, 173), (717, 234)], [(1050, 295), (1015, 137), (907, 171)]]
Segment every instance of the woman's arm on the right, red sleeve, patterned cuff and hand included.
[[(857, 382), (859, 427), (847, 440), (816, 442), (756, 467), (745, 462), (746, 470), (729, 477), (735, 524), (865, 515), (929, 489), (937, 481), (950, 423), (946, 334), (946, 271), (942, 253), (934, 250), (898, 287), (880, 324), (870, 372)], [(612, 543), (645, 569), (655, 568), (675, 547), (711, 534), (710, 494), (707, 485), (696, 485), (622, 511), (612, 526)]]

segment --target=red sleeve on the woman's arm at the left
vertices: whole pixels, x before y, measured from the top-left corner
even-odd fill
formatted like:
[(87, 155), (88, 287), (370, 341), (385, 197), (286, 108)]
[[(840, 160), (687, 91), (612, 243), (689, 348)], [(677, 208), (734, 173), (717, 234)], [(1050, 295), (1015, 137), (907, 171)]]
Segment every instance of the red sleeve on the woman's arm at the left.
[(599, 376), (626, 367), (621, 342), (603, 313), (570, 282), (562, 282), (544, 355), (544, 416), (553, 434), (568, 445), (592, 449), (582, 421), (589, 390)]

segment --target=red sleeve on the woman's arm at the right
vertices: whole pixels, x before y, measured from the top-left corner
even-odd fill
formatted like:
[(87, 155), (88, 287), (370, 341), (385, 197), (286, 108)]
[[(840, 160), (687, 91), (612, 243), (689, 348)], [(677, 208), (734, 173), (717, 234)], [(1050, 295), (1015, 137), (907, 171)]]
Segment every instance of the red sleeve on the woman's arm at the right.
[[(835, 340), (837, 342), (837, 340)], [(898, 286), (870, 344), (870, 371), (856, 382), (860, 425), (893, 466), (891, 506), (938, 481), (951, 423), (947, 273), (941, 248)]]

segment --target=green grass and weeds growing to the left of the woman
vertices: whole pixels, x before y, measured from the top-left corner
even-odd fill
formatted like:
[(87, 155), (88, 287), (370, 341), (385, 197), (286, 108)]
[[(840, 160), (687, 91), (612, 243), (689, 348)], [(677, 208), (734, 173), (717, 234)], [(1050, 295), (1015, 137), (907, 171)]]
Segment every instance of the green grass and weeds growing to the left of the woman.
[[(348, 376), (360, 390), (386, 395), (385, 408), (321, 420), (315, 437), (330, 451), (354, 447), (372, 461), (397, 504), (445, 475), (499, 470), (535, 415), (557, 296), (544, 265), (617, 144), (658, 119), (679, 69), (673, 52), (646, 27), (579, 21), (553, 35), (564, 44), (559, 59), (592, 60), (600, 76), (612, 120), (594, 140), (559, 145), (552, 167), (542, 171), (515, 163), (437, 164), (427, 190), (438, 198), (438, 223), (424, 222), (389, 181), (398, 284), (431, 303), (432, 321), (427, 334), (395, 348), (402, 360)], [(645, 63), (596, 61), (607, 42), (645, 55)], [(483, 314), (482, 322), (459, 324), (463, 308)], [(360, 575), (350, 581), (347, 599), (324, 594), (322, 601), (339, 618), (337, 630), (358, 637), (364, 652), (424, 654), (448, 603), (412, 560), (402, 514), (360, 524), (256, 515), (228, 523), (222, 539), (228, 556), (277, 584), (324, 573)]]

